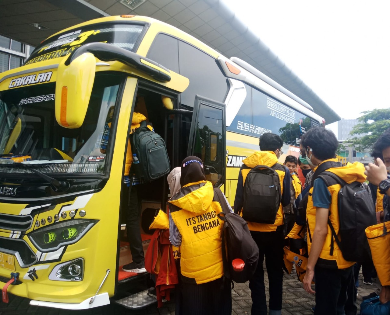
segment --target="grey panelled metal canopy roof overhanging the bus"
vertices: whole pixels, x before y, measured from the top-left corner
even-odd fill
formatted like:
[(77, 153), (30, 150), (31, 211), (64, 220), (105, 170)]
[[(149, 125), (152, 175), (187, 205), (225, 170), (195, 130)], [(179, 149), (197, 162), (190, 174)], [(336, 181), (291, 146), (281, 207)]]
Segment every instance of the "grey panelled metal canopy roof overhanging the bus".
[[(132, 10), (121, 2), (138, 6)], [(176, 26), (223, 55), (250, 63), (305, 100), (327, 124), (340, 120), (221, 0), (0, 0), (0, 33), (37, 46), (69, 26), (120, 14), (151, 16)]]

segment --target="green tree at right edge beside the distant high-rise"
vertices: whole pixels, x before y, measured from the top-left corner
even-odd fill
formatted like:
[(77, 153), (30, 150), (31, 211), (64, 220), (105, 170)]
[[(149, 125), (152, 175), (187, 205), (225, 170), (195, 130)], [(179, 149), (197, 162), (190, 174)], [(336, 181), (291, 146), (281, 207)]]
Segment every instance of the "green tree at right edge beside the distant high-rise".
[[(356, 150), (363, 152), (371, 147), (378, 137), (390, 127), (390, 108), (373, 109), (372, 111), (362, 112), (363, 116), (358, 118), (358, 123), (350, 132), (351, 139), (344, 143), (352, 143)], [(362, 137), (357, 135), (365, 134)]]

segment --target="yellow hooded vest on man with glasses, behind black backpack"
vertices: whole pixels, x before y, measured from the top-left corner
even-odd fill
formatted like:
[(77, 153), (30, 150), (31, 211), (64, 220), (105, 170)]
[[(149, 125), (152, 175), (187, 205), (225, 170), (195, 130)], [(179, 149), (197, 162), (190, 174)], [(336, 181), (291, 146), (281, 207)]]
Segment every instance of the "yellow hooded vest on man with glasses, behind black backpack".
[[(243, 184), (245, 184), (246, 176), (248, 175), (249, 171), (254, 168), (257, 165), (266, 165), (269, 167), (272, 167), (278, 162), (278, 158), (276, 157), (275, 152), (272, 151), (256, 151), (249, 157), (245, 158), (243, 160), (243, 164), (250, 167), (249, 169), (241, 169), (241, 174), (243, 176)], [(283, 170), (282, 170), (283, 168)], [(277, 169), (276, 172), (279, 175), (280, 179), (280, 188), (281, 188), (281, 194), (283, 194), (283, 179), (285, 176), (285, 169), (282, 165), (280, 169)], [(242, 216), (242, 209), (239, 209), (240, 215)], [(259, 232), (273, 232), (276, 231), (277, 227), (279, 225), (284, 224), (284, 213), (283, 213), (283, 207), (282, 204), (279, 206), (278, 213), (276, 215), (275, 223), (274, 224), (264, 224), (264, 223), (254, 223), (254, 222), (248, 222), (248, 228), (250, 231), (259, 231)]]

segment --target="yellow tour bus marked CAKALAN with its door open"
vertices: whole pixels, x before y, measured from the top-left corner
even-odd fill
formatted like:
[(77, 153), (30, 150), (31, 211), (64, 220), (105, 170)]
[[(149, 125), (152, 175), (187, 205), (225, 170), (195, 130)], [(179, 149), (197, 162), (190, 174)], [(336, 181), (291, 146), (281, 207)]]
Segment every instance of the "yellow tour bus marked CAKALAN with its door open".
[[(118, 296), (129, 308), (156, 301), (145, 297), (149, 274), (121, 269), (131, 262), (121, 184), (133, 112), (163, 137), (171, 168), (200, 157), (230, 204), (261, 134), (282, 137), (283, 162), (299, 154), (301, 134), (324, 123), (248, 63), (152, 18), (99, 18), (52, 35), (0, 74), (3, 294), (69, 310)], [(105, 150), (97, 150), (107, 123)], [(168, 194), (166, 176), (143, 184), (144, 251)]]

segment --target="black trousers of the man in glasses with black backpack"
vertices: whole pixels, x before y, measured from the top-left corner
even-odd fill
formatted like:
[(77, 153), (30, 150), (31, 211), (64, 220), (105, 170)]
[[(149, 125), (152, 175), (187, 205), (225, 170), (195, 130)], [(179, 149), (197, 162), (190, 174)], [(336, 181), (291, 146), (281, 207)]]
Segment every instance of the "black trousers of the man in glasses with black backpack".
[(284, 226), (281, 225), (275, 232), (250, 232), (259, 247), (259, 263), (255, 274), (249, 280), (252, 292), (252, 314), (267, 314), (266, 291), (264, 285), (263, 261), (266, 259), (266, 268), (269, 283), (269, 309), (282, 309), (283, 294), (283, 247)]

